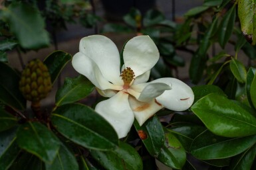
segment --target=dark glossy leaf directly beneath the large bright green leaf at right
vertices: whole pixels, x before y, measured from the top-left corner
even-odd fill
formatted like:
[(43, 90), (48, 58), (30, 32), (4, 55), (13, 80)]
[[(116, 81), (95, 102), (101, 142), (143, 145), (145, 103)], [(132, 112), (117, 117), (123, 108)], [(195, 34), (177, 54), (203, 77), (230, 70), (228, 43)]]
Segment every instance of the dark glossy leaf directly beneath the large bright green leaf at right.
[(190, 153), (197, 159), (223, 159), (242, 153), (255, 142), (256, 136), (225, 138), (206, 130), (193, 140)]

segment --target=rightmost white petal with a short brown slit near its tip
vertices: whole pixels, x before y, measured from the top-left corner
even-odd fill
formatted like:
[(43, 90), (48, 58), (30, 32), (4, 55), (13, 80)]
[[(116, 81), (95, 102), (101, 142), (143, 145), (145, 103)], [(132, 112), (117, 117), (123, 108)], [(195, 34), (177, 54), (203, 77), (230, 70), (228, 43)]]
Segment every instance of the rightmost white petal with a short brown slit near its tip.
[(162, 78), (152, 82), (172, 84), (171, 90), (164, 91), (162, 95), (156, 97), (158, 103), (164, 107), (174, 111), (183, 111), (193, 104), (194, 95), (192, 89), (179, 79)]

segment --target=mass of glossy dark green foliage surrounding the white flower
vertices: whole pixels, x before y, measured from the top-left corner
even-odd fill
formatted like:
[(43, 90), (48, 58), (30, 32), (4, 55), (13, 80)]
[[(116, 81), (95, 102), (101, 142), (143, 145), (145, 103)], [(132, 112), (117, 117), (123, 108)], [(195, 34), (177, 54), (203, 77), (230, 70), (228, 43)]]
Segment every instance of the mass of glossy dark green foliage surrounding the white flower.
[[(0, 169), (156, 169), (156, 159), (173, 169), (200, 169), (198, 164), (255, 169), (256, 20), (254, 12), (248, 13), (255, 11), (254, 1), (205, 0), (184, 15), (182, 24), (160, 11), (142, 16), (132, 9), (124, 16), (126, 25), (104, 26), (104, 32), (152, 37), (162, 56), (152, 79), (172, 76), (173, 68), (185, 64), (179, 50), (192, 55), (192, 107), (160, 110), (143, 126), (135, 120), (121, 140), (104, 118), (80, 102), (94, 91), (86, 77), (66, 77), (53, 108), (31, 111), (19, 91), (21, 72), (8, 62), (10, 50), (26, 52), (51, 44), (45, 19), (65, 28), (78, 15), (82, 24), (94, 26), (100, 19), (84, 11), (88, 2), (49, 0), (45, 10), (39, 10), (37, 1), (0, 5)], [(227, 46), (233, 51), (227, 52)], [(52, 83), (71, 58), (63, 51), (45, 57)]]

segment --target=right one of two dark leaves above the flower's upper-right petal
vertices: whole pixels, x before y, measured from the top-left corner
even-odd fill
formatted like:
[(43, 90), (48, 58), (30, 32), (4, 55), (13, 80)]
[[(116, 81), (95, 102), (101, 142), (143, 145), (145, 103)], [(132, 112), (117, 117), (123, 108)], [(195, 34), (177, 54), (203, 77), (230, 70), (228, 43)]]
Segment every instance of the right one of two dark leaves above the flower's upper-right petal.
[(152, 26), (154, 24), (159, 24), (160, 22), (164, 21), (166, 17), (164, 14), (156, 9), (151, 9), (146, 12), (143, 19), (144, 26)]

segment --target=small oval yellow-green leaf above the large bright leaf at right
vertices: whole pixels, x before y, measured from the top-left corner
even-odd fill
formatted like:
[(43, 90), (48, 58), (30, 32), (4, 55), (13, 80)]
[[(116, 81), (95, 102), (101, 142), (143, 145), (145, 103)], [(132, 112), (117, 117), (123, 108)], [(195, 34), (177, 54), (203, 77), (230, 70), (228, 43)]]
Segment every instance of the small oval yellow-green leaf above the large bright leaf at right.
[(246, 69), (245, 66), (238, 60), (232, 59), (229, 63), (230, 69), (240, 83), (245, 83), (246, 81)]

